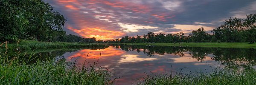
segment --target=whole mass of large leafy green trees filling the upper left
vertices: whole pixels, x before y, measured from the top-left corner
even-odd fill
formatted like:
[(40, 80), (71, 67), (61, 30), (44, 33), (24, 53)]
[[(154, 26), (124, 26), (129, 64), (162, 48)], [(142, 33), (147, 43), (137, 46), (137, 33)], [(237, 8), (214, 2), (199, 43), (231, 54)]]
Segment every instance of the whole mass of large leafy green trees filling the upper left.
[(0, 0), (0, 40), (52, 41), (65, 35), (65, 18), (42, 0)]

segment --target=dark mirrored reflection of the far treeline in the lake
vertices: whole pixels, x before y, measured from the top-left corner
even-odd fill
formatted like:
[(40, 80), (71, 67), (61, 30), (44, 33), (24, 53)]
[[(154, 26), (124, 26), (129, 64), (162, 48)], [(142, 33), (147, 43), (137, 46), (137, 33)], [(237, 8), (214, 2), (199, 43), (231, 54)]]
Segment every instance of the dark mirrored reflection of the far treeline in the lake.
[(213, 54), (212, 59), (221, 62), (227, 68), (252, 68), (256, 65), (256, 50), (254, 48), (200, 48), (200, 47), (180, 47), (180, 46), (153, 46), (153, 45), (112, 45), (125, 51), (143, 50), (148, 57), (155, 54), (172, 54), (179, 57), (184, 56), (184, 52), (189, 52), (192, 58), (204, 61), (209, 54)]

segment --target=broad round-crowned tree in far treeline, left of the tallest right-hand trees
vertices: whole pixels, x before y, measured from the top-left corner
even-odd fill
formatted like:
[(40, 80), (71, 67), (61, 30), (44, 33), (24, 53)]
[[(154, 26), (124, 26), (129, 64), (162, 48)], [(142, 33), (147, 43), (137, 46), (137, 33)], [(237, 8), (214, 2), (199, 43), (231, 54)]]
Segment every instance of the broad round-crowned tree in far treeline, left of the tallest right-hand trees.
[(207, 37), (207, 32), (203, 27), (198, 28), (197, 31), (192, 31), (192, 39), (195, 42), (204, 42)]

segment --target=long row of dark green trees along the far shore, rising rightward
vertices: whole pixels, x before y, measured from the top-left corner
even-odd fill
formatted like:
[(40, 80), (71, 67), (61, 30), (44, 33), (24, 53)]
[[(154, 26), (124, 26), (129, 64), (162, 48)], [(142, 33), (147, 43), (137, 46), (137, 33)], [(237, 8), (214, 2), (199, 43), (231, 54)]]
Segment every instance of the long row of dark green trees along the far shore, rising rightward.
[(125, 36), (121, 39), (108, 40), (110, 43), (134, 43), (134, 42), (250, 42), (256, 41), (256, 14), (246, 15), (246, 19), (230, 18), (223, 25), (212, 30), (208, 34), (203, 27), (192, 31), (192, 34), (185, 36), (183, 32), (175, 34), (155, 34), (148, 32), (143, 36)]

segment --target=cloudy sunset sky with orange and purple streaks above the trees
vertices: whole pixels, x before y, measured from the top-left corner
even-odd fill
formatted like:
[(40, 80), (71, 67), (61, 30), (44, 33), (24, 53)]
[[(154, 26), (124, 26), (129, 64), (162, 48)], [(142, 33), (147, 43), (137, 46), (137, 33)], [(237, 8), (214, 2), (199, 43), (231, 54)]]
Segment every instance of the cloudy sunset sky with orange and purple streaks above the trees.
[(207, 32), (230, 17), (256, 13), (255, 0), (44, 0), (67, 19), (64, 30), (83, 38)]

